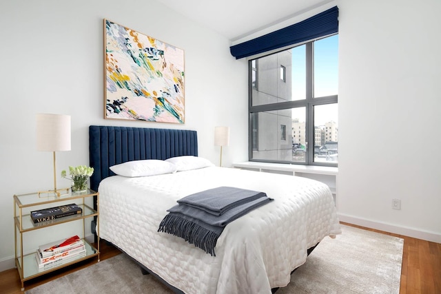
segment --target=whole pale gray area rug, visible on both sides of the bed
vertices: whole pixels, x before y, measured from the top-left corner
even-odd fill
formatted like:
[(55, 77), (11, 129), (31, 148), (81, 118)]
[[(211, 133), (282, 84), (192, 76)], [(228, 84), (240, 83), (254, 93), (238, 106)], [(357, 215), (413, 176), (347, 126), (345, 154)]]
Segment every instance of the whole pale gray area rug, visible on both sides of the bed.
[[(342, 235), (325, 238), (296, 270), (287, 293), (399, 293), (403, 240), (342, 225)], [(27, 294), (172, 293), (120, 254), (60, 277)]]

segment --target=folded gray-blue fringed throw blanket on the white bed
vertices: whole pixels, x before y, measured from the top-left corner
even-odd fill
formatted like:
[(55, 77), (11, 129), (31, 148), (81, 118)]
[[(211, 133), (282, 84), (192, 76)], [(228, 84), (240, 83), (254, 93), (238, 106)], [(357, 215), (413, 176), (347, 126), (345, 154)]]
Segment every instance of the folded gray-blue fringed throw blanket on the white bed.
[(236, 187), (194, 193), (167, 210), (158, 231), (177, 235), (216, 256), (214, 247), (225, 226), (272, 200), (263, 192)]

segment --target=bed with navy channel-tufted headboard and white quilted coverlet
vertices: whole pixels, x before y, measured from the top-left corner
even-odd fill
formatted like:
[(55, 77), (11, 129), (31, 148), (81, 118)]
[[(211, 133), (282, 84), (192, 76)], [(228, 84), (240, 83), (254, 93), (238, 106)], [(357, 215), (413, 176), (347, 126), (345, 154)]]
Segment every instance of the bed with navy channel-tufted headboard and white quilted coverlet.
[[(100, 238), (119, 247), (176, 293), (271, 293), (287, 286), (311, 248), (341, 233), (329, 188), (287, 175), (197, 164), (153, 176), (119, 176), (133, 160), (198, 158), (197, 133), (183, 129), (90, 126), (92, 189)], [(213, 187), (264, 191), (274, 201), (227, 224), (216, 256), (158, 232), (176, 200)]]

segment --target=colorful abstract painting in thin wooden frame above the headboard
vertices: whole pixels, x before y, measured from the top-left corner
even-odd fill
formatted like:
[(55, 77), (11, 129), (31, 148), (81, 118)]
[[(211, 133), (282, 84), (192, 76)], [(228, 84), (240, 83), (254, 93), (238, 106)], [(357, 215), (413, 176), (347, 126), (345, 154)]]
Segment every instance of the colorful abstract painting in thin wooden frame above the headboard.
[(104, 19), (105, 118), (184, 123), (184, 51)]

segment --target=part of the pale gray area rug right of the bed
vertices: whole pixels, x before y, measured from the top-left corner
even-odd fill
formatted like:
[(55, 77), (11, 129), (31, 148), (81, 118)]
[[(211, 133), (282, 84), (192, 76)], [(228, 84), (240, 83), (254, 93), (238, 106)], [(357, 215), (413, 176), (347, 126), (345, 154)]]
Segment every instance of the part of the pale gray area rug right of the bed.
[(342, 226), (342, 235), (320, 242), (277, 294), (398, 294), (403, 244), (402, 238)]

